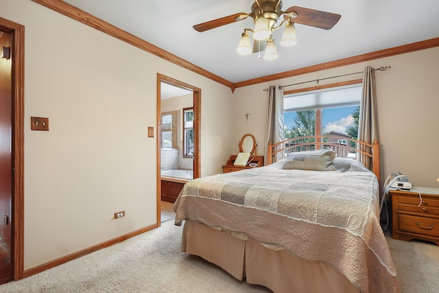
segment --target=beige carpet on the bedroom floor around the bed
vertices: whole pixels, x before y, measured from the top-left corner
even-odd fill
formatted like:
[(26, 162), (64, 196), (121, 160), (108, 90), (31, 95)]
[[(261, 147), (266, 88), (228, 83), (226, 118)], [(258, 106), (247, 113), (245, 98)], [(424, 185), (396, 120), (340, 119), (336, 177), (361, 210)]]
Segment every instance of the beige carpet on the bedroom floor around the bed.
[[(167, 220), (125, 242), (0, 285), (0, 292), (270, 292), (180, 253), (181, 229)], [(439, 292), (438, 246), (390, 238), (388, 242), (401, 292)]]

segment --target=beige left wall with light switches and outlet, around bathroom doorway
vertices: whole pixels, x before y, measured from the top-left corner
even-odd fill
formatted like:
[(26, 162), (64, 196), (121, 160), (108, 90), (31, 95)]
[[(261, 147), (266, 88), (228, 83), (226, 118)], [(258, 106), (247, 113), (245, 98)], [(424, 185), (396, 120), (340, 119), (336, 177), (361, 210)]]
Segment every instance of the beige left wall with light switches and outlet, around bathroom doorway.
[[(201, 172), (222, 171), (226, 86), (30, 0), (0, 7), (25, 25), (25, 269), (156, 223), (157, 73), (202, 89)], [(31, 131), (31, 116), (50, 131)]]

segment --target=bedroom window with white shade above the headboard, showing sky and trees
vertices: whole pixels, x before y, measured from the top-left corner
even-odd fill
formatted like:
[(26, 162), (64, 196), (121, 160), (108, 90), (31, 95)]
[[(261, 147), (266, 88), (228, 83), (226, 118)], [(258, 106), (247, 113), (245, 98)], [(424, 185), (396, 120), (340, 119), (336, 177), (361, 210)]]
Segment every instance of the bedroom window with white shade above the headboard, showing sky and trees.
[(344, 136), (356, 139), (360, 100), (361, 84), (286, 94), (285, 139), (314, 134), (337, 134), (344, 144)]

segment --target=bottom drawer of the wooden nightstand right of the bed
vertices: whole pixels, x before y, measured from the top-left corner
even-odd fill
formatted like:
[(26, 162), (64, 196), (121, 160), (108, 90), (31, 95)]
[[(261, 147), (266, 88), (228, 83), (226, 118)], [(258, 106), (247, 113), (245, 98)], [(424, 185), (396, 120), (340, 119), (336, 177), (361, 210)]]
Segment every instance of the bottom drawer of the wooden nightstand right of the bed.
[(439, 219), (399, 215), (399, 230), (439, 237)]

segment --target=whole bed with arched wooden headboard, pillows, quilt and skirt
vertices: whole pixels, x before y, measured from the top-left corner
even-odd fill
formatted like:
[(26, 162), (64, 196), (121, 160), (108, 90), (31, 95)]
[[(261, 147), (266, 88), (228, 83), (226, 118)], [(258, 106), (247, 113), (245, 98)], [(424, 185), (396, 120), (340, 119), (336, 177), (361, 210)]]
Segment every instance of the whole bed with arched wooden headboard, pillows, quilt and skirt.
[(378, 143), (333, 139), (270, 144), (270, 165), (187, 183), (174, 205), (182, 252), (273, 292), (399, 292), (379, 224)]

